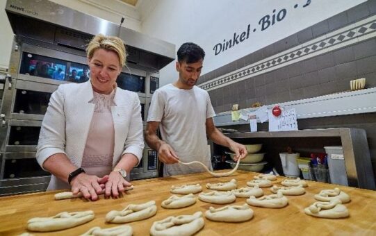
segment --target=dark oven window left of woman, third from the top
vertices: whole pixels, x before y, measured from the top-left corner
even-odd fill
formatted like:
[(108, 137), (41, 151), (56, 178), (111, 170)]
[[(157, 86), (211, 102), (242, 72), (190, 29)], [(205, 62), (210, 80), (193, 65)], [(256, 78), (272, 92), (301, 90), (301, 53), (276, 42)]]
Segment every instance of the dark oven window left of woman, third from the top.
[(40, 126), (10, 126), (8, 145), (37, 145)]

